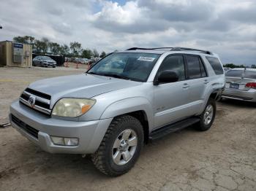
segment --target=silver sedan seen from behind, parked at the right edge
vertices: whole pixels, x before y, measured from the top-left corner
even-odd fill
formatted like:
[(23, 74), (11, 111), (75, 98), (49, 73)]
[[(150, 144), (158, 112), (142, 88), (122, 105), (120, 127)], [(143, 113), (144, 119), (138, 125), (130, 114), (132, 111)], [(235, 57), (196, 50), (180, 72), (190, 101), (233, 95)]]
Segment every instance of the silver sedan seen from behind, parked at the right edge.
[(222, 98), (256, 102), (256, 69), (227, 71)]

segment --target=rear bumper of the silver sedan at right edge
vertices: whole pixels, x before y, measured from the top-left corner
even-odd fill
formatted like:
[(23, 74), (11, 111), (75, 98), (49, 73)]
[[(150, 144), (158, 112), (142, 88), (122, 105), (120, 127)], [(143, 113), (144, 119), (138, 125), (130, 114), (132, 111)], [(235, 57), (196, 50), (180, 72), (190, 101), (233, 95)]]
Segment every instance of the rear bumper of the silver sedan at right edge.
[(222, 93), (222, 98), (256, 102), (256, 90), (250, 89), (248, 91), (242, 91), (225, 88)]

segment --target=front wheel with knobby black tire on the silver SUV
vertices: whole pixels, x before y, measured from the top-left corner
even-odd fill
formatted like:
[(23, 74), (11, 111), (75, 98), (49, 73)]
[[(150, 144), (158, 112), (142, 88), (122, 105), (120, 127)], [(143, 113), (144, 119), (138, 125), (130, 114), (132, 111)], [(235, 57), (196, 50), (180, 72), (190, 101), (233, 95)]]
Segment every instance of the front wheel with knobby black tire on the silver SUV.
[(103, 174), (120, 176), (135, 165), (143, 148), (143, 126), (135, 117), (115, 118), (91, 160)]

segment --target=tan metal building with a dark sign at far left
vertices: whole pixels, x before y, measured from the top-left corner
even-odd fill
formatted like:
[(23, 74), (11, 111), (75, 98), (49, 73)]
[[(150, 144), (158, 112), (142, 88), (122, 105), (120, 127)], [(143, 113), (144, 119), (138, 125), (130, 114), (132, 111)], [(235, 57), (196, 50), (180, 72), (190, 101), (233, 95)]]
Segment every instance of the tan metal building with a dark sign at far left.
[(0, 42), (0, 66), (31, 67), (32, 46), (17, 42)]

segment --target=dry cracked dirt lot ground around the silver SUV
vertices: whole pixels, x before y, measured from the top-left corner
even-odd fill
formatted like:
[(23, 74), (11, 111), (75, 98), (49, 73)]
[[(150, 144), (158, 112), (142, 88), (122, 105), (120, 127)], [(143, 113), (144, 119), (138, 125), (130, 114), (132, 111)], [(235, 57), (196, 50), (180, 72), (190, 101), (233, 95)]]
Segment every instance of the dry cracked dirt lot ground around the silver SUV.
[[(0, 68), (0, 122), (9, 105), (37, 79), (83, 69)], [(0, 190), (256, 190), (256, 106), (217, 104), (211, 130), (193, 128), (144, 147), (128, 174), (109, 178), (89, 157), (51, 155), (13, 128), (0, 128)]]

